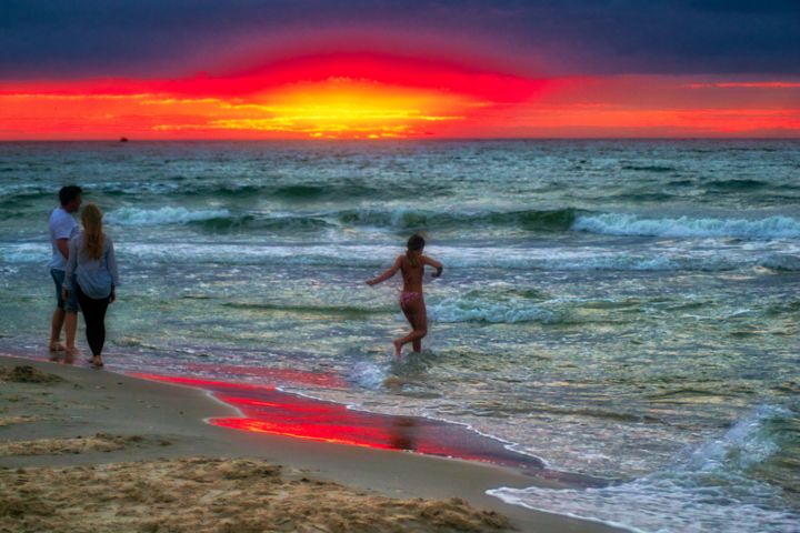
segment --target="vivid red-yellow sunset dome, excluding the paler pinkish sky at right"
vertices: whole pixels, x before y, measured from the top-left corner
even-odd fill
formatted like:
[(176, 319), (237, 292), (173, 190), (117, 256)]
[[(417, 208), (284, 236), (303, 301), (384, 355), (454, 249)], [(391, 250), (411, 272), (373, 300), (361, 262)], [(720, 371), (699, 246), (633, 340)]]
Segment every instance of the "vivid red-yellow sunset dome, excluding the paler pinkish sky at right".
[(436, 134), (538, 83), (422, 59), (320, 54), (219, 76), (0, 84), (0, 138), (383, 139)]

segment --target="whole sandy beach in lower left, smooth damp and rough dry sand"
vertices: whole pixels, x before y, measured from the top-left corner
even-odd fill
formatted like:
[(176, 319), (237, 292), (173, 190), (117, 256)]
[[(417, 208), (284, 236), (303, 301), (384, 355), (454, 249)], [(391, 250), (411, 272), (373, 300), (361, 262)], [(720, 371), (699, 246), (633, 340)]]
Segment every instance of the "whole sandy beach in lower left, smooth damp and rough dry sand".
[(209, 394), (0, 356), (0, 531), (612, 531), (484, 495), (511, 469), (227, 430)]

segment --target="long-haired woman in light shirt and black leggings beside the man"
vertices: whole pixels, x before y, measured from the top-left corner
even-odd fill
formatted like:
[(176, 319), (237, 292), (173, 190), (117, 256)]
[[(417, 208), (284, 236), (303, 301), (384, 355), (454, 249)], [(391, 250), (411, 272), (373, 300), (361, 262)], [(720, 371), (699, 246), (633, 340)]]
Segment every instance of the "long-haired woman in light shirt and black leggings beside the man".
[(64, 269), (64, 299), (76, 291), (87, 326), (87, 341), (92, 352), (91, 365), (103, 365), (106, 310), (117, 298), (119, 284), (113, 242), (102, 231), (102, 212), (93, 203), (81, 211), (83, 232), (70, 240), (69, 260)]

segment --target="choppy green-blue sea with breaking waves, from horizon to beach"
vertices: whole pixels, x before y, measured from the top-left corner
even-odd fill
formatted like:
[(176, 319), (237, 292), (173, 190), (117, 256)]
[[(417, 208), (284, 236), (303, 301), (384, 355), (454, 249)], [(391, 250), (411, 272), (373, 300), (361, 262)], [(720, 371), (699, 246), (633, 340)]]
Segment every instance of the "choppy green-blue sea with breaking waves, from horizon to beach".
[[(76, 182), (124, 286), (109, 361), (466, 423), (613, 480), (507, 501), (640, 531), (800, 529), (800, 142), (0, 144), (0, 348), (40, 351)], [(399, 280), (444, 262), (421, 355)]]

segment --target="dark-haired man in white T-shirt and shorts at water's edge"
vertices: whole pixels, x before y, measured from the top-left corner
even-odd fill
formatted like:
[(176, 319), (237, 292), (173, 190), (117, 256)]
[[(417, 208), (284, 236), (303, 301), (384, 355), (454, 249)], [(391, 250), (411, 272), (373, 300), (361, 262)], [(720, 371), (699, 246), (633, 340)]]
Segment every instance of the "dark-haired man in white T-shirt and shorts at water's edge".
[[(64, 300), (61, 295), (64, 281), (64, 266), (69, 258), (69, 240), (78, 233), (78, 223), (72, 218), (81, 204), (82, 190), (77, 185), (68, 185), (59, 191), (61, 205), (50, 215), (50, 242), (52, 244), (52, 259), (50, 260), (50, 275), (56, 282), (57, 308), (53, 311), (50, 328), (50, 353), (57, 359), (57, 352), (64, 352), (64, 362), (72, 363), (77, 353), (74, 346), (76, 329), (78, 326), (78, 296), (70, 291)], [(64, 329), (67, 345), (61, 344), (61, 329)]]

